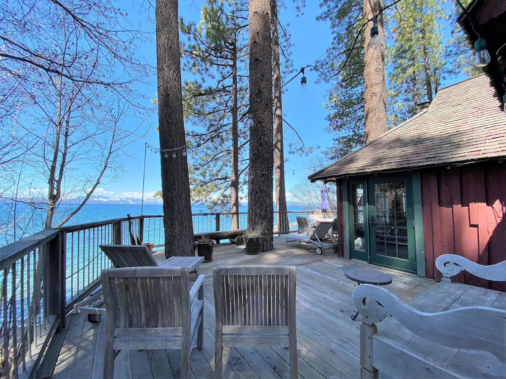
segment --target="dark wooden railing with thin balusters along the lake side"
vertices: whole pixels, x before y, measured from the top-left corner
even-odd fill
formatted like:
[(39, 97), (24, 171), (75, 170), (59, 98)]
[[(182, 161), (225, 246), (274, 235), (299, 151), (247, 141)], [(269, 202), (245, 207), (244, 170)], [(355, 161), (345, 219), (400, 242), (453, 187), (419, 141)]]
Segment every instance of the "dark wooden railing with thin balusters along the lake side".
[[(297, 216), (311, 213), (274, 212), (274, 233), (296, 231)], [(239, 229), (247, 228), (246, 212), (192, 218), (196, 232), (230, 230), (233, 219)], [(140, 242), (163, 246), (163, 216), (145, 215), (46, 229), (0, 248), (0, 377), (39, 368), (65, 315), (99, 286), (101, 270), (111, 267), (99, 245), (129, 245), (129, 231)]]

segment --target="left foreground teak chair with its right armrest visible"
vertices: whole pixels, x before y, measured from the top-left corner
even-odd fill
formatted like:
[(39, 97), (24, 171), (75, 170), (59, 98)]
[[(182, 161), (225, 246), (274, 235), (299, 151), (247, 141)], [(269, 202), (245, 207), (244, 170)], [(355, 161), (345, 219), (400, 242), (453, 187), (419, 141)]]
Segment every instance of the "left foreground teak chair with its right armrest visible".
[(203, 287), (190, 290), (188, 268), (133, 267), (102, 271), (107, 327), (104, 378), (112, 378), (120, 350), (181, 349), (181, 377), (188, 377), (192, 341), (203, 342)]

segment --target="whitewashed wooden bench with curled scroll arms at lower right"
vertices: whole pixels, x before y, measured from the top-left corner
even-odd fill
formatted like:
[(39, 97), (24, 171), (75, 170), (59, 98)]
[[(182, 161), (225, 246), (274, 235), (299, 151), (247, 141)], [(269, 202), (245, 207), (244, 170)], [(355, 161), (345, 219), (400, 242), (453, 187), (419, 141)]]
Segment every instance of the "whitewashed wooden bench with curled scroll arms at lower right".
[(436, 267), (443, 281), (409, 305), (384, 288), (355, 288), (362, 378), (378, 370), (394, 379), (506, 377), (506, 294), (450, 282), (464, 269), (506, 281), (506, 262), (482, 266), (445, 254)]

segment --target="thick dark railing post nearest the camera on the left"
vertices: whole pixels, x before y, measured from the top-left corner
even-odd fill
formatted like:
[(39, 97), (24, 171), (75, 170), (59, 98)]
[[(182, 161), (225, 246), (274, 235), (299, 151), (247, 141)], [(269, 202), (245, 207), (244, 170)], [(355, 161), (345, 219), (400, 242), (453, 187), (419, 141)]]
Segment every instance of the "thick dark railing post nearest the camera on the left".
[(54, 239), (49, 242), (48, 254), (48, 291), (49, 314), (60, 317), (60, 324), (57, 331), (65, 327), (65, 302), (66, 302), (66, 259), (67, 259), (67, 233), (59, 232)]

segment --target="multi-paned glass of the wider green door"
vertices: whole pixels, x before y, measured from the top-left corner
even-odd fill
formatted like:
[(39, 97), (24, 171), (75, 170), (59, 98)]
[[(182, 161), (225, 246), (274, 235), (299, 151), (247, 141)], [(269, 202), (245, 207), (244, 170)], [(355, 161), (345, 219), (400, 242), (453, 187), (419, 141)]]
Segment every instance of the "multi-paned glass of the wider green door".
[(374, 184), (376, 255), (408, 259), (406, 184)]

